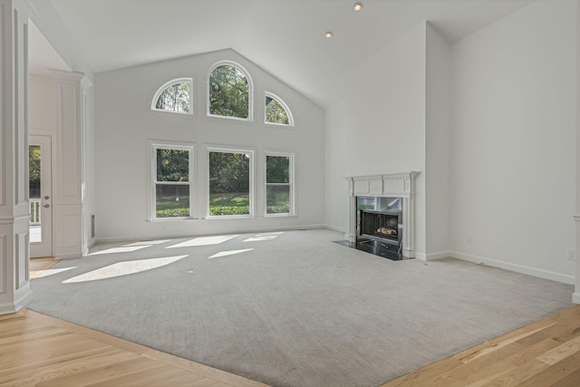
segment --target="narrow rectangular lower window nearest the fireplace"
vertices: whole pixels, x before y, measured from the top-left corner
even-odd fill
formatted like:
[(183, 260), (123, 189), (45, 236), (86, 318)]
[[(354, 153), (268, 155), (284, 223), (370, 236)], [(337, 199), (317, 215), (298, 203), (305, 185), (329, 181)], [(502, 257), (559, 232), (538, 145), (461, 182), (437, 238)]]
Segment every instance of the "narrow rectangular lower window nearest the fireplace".
[(266, 153), (266, 215), (294, 214), (294, 155)]

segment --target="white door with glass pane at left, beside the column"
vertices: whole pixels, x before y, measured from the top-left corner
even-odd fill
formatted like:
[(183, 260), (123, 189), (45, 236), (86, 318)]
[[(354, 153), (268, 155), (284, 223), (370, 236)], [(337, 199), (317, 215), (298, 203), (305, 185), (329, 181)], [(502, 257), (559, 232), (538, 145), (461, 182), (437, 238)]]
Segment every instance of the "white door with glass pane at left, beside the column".
[(31, 134), (28, 144), (30, 257), (53, 256), (51, 138)]

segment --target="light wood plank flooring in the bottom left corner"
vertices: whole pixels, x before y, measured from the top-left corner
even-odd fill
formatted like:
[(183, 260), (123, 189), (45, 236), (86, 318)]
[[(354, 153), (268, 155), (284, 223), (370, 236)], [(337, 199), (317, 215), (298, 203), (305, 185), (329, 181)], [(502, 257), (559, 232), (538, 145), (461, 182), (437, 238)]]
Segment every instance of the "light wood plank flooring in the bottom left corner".
[(29, 310), (0, 315), (0, 386), (264, 387)]

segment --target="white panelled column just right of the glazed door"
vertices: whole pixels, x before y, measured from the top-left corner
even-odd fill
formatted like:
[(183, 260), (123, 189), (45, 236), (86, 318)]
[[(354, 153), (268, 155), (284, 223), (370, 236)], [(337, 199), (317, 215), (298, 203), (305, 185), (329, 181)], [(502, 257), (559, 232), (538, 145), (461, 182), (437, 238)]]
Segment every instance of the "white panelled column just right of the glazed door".
[(58, 81), (58, 116), (53, 171), (53, 250), (57, 258), (78, 258), (86, 251), (82, 213), (83, 73), (51, 71)]

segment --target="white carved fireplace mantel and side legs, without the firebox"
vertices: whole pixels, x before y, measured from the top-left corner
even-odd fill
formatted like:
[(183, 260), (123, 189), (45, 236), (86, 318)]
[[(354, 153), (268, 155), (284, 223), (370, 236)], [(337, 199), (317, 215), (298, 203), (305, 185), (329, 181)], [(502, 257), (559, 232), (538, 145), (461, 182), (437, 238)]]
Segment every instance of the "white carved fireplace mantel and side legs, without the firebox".
[(346, 177), (348, 181), (349, 208), (345, 239), (356, 242), (356, 197), (402, 198), (402, 255), (414, 256), (414, 201), (415, 177), (420, 172)]

